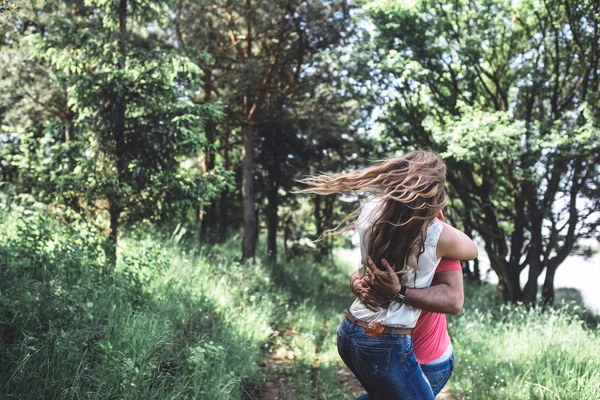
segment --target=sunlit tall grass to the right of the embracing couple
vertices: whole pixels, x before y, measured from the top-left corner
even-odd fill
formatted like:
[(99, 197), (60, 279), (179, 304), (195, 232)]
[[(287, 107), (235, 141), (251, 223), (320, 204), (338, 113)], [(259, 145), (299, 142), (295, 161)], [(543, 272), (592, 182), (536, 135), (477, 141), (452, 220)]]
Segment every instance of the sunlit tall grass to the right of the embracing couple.
[(573, 302), (554, 308), (501, 304), (495, 286), (465, 287), (448, 317), (456, 352), (450, 381), (460, 399), (600, 399), (600, 329)]

